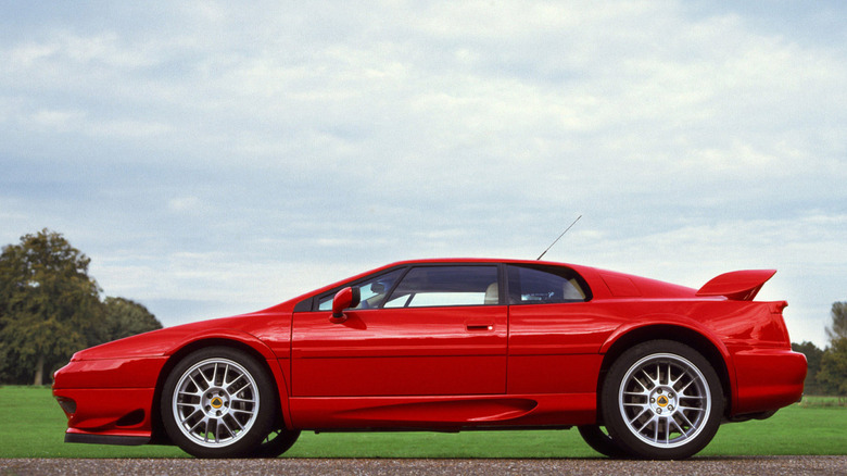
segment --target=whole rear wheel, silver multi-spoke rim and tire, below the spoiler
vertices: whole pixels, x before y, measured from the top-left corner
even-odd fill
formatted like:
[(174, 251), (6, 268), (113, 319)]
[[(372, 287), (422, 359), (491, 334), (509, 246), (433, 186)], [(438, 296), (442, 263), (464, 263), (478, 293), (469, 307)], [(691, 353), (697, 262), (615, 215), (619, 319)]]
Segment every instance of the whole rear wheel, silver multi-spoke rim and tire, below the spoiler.
[(627, 455), (678, 460), (711, 441), (724, 401), (709, 361), (683, 343), (653, 340), (612, 363), (601, 405), (611, 439)]

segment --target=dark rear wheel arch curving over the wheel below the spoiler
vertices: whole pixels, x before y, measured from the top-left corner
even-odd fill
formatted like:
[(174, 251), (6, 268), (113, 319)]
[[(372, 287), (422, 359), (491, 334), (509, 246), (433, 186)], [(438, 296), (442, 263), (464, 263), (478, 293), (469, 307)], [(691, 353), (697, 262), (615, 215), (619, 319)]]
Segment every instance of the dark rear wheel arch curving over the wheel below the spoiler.
[(603, 346), (605, 355), (597, 378), (597, 419), (601, 421), (601, 397), (606, 374), (612, 363), (627, 350), (649, 340), (673, 340), (699, 352), (715, 368), (721, 381), (725, 400), (724, 416), (732, 414), (734, 377), (728, 365), (729, 353), (704, 334), (680, 324), (652, 324), (619, 333)]

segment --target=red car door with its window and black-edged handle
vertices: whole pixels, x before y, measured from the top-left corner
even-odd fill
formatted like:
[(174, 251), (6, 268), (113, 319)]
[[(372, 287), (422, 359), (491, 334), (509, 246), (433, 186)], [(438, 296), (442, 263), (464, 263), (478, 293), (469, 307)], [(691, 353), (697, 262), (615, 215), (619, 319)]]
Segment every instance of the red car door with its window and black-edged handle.
[(329, 320), (331, 296), (294, 314), (293, 397), (505, 393), (497, 265), (404, 267), (358, 287), (343, 323)]

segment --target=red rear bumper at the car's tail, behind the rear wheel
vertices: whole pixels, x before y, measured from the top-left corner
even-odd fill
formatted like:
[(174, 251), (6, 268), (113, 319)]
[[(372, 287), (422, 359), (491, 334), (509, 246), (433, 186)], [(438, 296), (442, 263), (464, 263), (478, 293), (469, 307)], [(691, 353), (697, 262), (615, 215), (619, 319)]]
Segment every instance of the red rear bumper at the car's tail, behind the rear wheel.
[(806, 355), (786, 349), (748, 349), (733, 354), (736, 389), (732, 415), (779, 410), (802, 397)]

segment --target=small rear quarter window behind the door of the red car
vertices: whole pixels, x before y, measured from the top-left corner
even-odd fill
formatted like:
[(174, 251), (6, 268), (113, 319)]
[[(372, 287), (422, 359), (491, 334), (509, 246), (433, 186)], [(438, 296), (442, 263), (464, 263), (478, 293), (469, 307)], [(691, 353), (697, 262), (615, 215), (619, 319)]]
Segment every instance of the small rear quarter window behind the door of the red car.
[(582, 302), (591, 299), (577, 273), (566, 267), (508, 266), (509, 304)]

